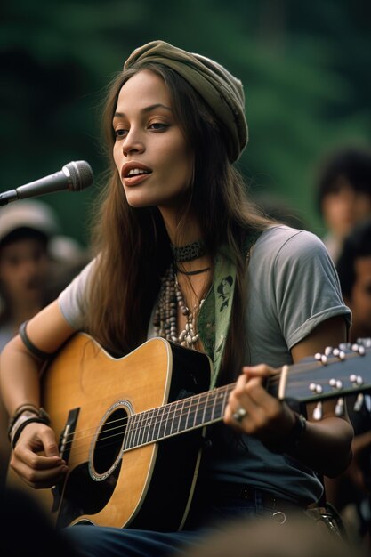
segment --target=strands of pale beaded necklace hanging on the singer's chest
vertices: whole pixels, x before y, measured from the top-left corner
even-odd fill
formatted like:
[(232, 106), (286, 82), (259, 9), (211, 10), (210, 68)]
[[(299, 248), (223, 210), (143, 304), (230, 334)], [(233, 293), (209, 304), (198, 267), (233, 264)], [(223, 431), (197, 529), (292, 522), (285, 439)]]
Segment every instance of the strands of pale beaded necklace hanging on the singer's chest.
[[(153, 320), (155, 335), (179, 343), (181, 346), (194, 347), (199, 338), (196, 318), (203, 302), (204, 299), (196, 304), (193, 311), (186, 306), (172, 263), (161, 281), (157, 310)], [(179, 335), (177, 335), (178, 307), (186, 318), (185, 328)]]

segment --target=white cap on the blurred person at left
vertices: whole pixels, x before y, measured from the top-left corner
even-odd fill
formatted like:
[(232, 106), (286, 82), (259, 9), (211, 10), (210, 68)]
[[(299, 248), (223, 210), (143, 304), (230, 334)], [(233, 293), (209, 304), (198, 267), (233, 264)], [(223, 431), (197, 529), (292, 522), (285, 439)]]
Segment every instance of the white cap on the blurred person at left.
[(14, 230), (28, 228), (47, 238), (59, 230), (58, 217), (52, 207), (35, 199), (14, 201), (0, 207), (0, 242)]

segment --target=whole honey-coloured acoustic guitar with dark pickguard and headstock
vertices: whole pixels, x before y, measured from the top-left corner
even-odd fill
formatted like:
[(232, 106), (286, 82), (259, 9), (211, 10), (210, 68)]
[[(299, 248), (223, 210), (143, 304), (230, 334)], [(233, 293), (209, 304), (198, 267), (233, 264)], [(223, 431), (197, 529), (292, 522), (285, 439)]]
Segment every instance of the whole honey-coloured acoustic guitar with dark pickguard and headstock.
[[(266, 388), (293, 408), (315, 401), (315, 419), (322, 401), (335, 398), (341, 415), (345, 396), (358, 394), (360, 404), (371, 386), (371, 341), (351, 348), (284, 366)], [(234, 387), (208, 391), (211, 371), (206, 354), (158, 337), (120, 359), (82, 333), (62, 347), (42, 381), (69, 464), (46, 496), (57, 527), (184, 527), (206, 426), (222, 420)]]

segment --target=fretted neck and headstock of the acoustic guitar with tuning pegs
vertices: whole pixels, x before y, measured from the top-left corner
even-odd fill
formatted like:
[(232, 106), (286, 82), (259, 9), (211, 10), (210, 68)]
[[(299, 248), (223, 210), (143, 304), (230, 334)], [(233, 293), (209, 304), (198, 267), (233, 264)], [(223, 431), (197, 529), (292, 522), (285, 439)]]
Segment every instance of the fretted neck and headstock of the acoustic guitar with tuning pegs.
[[(326, 364), (317, 358), (302, 360), (298, 364), (284, 366), (276, 377), (270, 377), (265, 388), (273, 396), (287, 402), (291, 399), (296, 402), (320, 401), (369, 391), (370, 382), (365, 384), (357, 374), (368, 374), (366, 364), (370, 356), (367, 343), (367, 348), (360, 353), (344, 348), (341, 359), (336, 355), (326, 359)], [(221, 421), (235, 385), (223, 385), (129, 416), (124, 451)]]

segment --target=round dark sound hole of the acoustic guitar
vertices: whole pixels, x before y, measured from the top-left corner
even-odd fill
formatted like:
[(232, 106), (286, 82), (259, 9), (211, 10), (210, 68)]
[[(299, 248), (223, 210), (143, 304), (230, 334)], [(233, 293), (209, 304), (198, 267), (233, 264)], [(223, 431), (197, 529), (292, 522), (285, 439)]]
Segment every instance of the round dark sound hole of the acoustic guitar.
[(93, 467), (98, 474), (104, 474), (116, 463), (124, 443), (126, 423), (125, 408), (117, 408), (102, 424), (93, 454)]

